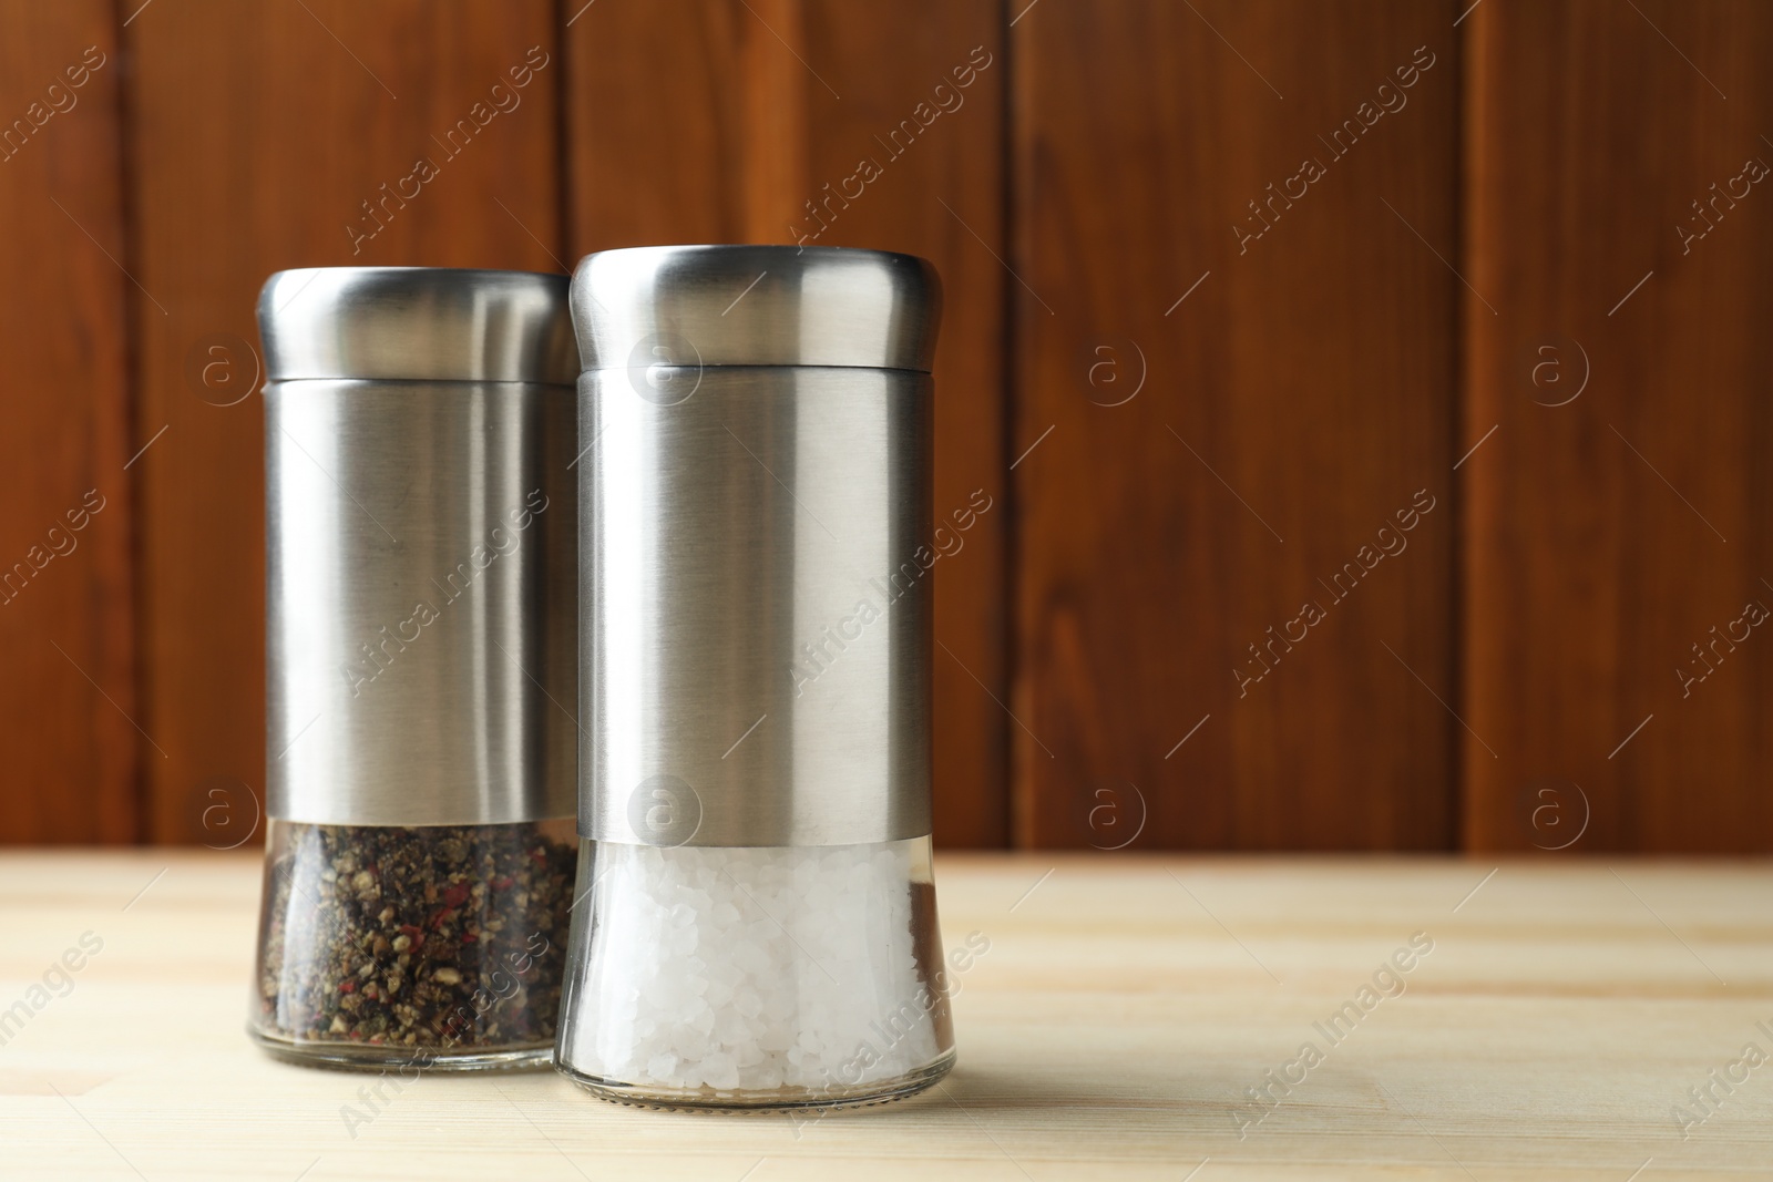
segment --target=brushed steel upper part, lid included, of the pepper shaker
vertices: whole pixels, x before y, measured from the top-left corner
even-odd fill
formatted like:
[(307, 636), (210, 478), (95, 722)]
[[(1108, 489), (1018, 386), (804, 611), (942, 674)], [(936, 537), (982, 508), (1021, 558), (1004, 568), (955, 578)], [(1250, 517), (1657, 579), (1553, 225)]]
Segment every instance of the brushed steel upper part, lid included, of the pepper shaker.
[[(387, 372), (417, 351), (415, 370), (558, 377), (564, 278), (410, 271), (395, 276), (402, 287), (376, 271), (353, 294), (351, 275), (323, 271), (278, 310), (293, 275), (303, 273), (273, 276), (261, 298), (268, 815), (365, 826), (571, 815), (573, 388)], [(512, 287), (509, 307), (500, 291)], [(303, 307), (314, 289), (332, 303)], [(463, 291), (438, 299), (452, 289)], [(551, 328), (539, 326), (548, 299)], [(450, 337), (454, 370), (426, 353)], [(284, 377), (326, 369), (314, 363), (326, 351), (332, 369), (379, 372)]]

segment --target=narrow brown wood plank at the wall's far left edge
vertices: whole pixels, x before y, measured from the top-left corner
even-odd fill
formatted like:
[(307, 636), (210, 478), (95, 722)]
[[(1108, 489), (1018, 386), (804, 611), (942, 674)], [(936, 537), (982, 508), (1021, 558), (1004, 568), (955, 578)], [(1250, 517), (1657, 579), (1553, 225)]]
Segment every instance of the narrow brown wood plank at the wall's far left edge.
[(99, 0), (7, 0), (0, 27), (0, 842), (129, 842), (115, 16)]

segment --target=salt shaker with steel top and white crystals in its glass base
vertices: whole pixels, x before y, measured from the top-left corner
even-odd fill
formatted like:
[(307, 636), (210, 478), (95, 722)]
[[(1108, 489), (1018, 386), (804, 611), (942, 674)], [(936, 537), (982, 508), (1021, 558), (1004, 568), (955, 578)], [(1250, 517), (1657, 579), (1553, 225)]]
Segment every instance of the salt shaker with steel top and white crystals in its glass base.
[(587, 257), (580, 863), (555, 1065), (821, 1108), (954, 1063), (931, 879), (941, 289), (871, 250)]

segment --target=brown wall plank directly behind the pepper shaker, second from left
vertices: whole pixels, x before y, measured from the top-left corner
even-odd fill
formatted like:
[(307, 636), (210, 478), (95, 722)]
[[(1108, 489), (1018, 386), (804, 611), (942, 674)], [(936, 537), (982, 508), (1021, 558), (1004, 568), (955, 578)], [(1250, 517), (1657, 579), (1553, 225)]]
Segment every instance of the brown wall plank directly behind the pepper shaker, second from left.
[[(558, 269), (557, 14), (179, 0), (126, 32), (137, 424), (165, 427), (137, 464), (144, 727), (167, 753), (147, 760), (149, 835), (206, 840), (207, 789), (257, 792), (266, 764), (262, 408), (220, 406), (250, 388), (245, 346), (216, 356), (232, 386), (199, 379), (206, 349), (257, 338), (259, 285), (282, 268)], [(415, 174), (418, 197), (388, 197)]]

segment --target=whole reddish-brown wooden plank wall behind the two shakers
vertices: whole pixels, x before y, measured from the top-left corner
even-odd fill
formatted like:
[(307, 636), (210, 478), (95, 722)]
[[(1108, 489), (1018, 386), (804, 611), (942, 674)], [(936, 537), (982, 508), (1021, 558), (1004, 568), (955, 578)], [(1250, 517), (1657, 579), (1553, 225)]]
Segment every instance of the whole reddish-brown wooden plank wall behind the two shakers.
[(254, 808), (268, 273), (805, 237), (947, 284), (943, 844), (1773, 847), (1750, 0), (0, 21), (0, 842)]

